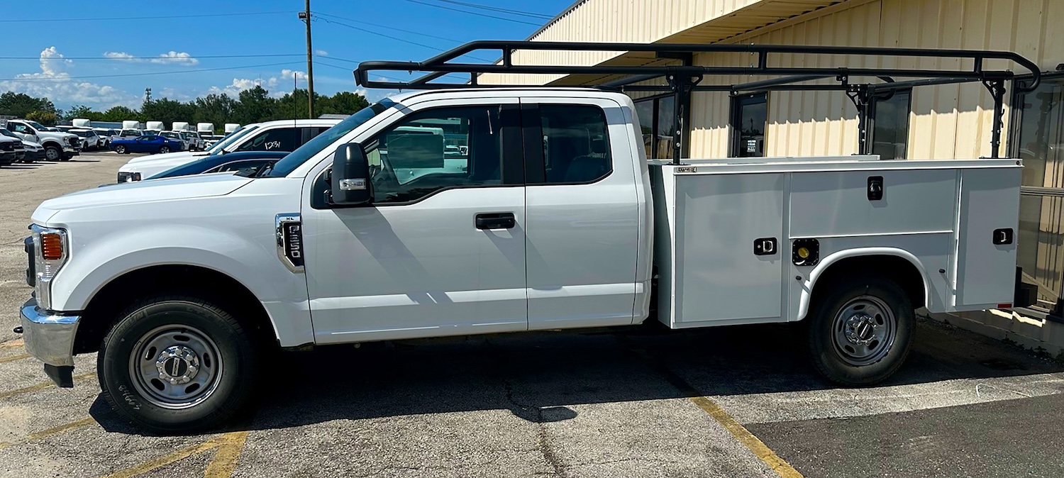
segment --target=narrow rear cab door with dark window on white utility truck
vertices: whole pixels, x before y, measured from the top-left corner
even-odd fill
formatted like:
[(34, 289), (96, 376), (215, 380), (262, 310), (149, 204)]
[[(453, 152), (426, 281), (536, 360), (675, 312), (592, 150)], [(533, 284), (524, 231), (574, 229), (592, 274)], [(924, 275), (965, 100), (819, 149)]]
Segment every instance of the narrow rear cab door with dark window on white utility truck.
[(521, 99), (529, 329), (633, 320), (642, 284), (629, 128), (610, 99)]

